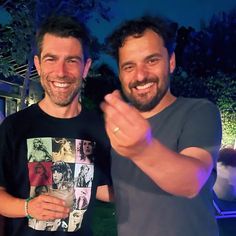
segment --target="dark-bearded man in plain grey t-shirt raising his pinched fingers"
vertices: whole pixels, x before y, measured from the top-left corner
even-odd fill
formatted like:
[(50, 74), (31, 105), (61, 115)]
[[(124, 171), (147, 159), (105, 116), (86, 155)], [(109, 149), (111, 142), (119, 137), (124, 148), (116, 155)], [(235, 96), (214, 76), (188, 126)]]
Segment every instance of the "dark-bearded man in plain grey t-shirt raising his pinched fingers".
[(107, 39), (122, 90), (101, 104), (113, 147), (119, 236), (218, 235), (212, 187), (220, 115), (207, 100), (171, 94), (176, 29), (146, 16)]

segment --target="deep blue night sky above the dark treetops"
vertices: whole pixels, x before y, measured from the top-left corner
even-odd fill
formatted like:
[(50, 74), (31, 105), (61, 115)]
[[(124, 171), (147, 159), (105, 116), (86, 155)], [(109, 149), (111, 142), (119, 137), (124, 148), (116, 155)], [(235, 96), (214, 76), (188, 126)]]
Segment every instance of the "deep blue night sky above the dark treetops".
[(145, 12), (164, 15), (181, 26), (199, 29), (200, 20), (206, 22), (214, 13), (236, 7), (235, 0), (114, 0), (111, 22), (90, 21), (89, 27), (100, 40), (124, 19), (141, 16)]

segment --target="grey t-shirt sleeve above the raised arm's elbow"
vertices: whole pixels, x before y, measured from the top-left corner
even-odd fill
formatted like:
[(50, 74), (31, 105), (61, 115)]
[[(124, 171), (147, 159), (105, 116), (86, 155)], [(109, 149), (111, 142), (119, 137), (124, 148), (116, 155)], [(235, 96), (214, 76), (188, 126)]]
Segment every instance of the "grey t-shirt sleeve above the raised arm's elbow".
[(187, 147), (199, 147), (211, 153), (214, 163), (221, 145), (222, 127), (218, 108), (201, 100), (189, 111), (181, 136), (179, 151)]

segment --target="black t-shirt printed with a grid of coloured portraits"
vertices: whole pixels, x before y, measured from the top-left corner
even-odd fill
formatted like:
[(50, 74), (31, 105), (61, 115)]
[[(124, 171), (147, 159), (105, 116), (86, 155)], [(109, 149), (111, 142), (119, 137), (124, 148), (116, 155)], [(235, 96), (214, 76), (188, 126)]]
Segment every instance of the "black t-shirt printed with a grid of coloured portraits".
[(71, 208), (66, 219), (9, 218), (7, 235), (92, 235), (96, 188), (111, 183), (101, 117), (82, 110), (75, 118), (58, 119), (36, 104), (6, 118), (0, 138), (0, 186), (19, 198), (50, 194)]

